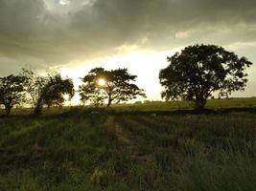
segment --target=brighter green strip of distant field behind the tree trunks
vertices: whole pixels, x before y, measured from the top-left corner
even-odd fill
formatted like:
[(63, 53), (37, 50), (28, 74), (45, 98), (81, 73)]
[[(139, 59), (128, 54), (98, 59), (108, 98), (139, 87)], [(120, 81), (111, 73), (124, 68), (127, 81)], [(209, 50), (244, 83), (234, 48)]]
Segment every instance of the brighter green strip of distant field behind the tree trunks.
[[(70, 110), (70, 108), (82, 107), (61, 107), (44, 109), (44, 116), (58, 115)], [(248, 98), (228, 98), (228, 99), (209, 99), (207, 100), (206, 109), (220, 110), (229, 108), (256, 108), (256, 97)], [(113, 105), (108, 110), (117, 112), (159, 112), (159, 111), (175, 111), (175, 110), (192, 110), (193, 103), (188, 101), (170, 101), (170, 102), (151, 102), (144, 104), (120, 104)], [(12, 116), (28, 116), (34, 112), (31, 108), (12, 109)], [(0, 116), (4, 115), (5, 111), (0, 108)]]

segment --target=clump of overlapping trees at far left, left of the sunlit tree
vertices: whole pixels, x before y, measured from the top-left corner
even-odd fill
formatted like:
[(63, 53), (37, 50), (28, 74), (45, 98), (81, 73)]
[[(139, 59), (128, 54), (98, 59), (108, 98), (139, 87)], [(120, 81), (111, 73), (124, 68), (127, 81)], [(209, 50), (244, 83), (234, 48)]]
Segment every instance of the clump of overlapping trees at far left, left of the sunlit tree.
[(9, 116), (14, 106), (30, 104), (35, 115), (42, 113), (44, 105), (61, 105), (64, 95), (74, 96), (74, 84), (70, 78), (62, 78), (57, 72), (39, 75), (32, 70), (22, 69), (20, 74), (0, 78), (0, 104)]

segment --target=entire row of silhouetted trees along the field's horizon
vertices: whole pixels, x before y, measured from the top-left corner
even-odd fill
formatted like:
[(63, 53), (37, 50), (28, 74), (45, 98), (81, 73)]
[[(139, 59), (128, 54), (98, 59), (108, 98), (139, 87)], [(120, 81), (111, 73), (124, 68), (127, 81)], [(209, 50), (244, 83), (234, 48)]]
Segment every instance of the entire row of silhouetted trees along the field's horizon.
[[(193, 101), (196, 110), (202, 110), (213, 93), (228, 96), (244, 90), (246, 68), (252, 65), (245, 57), (220, 46), (203, 44), (186, 47), (167, 59), (169, 66), (159, 73), (164, 88), (162, 98)], [(147, 73), (147, 67), (145, 70)], [(145, 91), (134, 83), (136, 77), (128, 69), (95, 68), (81, 78), (82, 85), (77, 92), (82, 103), (109, 107), (138, 96), (146, 97)], [(14, 106), (21, 104), (31, 104), (35, 115), (40, 115), (44, 106), (61, 105), (65, 96), (71, 99), (74, 94), (72, 79), (58, 72), (40, 75), (23, 69), (20, 74), (0, 78), (0, 105), (7, 116)]]

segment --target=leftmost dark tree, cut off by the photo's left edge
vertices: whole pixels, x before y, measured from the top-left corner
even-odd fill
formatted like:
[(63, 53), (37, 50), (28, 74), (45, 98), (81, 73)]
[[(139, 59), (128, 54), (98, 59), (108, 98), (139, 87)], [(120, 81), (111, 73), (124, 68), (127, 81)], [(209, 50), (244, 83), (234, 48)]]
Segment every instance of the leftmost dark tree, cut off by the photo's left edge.
[(0, 104), (5, 107), (6, 115), (9, 116), (14, 105), (24, 100), (24, 82), (22, 75), (8, 75), (0, 78)]

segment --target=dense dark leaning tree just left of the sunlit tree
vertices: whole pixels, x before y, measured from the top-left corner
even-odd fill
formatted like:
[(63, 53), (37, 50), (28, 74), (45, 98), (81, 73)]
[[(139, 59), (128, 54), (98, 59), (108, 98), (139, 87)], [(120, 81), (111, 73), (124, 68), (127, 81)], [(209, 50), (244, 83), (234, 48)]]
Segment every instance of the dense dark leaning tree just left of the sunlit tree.
[(60, 74), (48, 74), (39, 84), (39, 93), (35, 104), (35, 115), (42, 113), (43, 105), (50, 107), (53, 104), (61, 105), (64, 102), (64, 95), (72, 98), (75, 94), (72, 79), (63, 79)]

